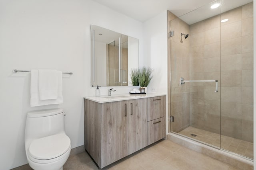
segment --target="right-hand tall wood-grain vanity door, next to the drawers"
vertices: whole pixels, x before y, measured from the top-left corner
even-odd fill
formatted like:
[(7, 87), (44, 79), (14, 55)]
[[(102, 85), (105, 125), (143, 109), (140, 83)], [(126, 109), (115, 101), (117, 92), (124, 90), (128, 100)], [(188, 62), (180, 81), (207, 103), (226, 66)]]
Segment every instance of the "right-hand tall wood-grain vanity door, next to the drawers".
[(128, 100), (128, 154), (147, 146), (148, 100)]

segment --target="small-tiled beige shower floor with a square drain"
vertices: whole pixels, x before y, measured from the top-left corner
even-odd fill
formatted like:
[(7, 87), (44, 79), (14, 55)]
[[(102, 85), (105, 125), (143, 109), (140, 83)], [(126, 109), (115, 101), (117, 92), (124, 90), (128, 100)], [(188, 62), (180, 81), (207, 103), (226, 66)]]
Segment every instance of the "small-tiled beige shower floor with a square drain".
[[(221, 135), (220, 140), (220, 135), (217, 133), (212, 133), (191, 126), (180, 131), (179, 134), (253, 159), (253, 143), (224, 135)], [(196, 137), (191, 134), (195, 134)]]

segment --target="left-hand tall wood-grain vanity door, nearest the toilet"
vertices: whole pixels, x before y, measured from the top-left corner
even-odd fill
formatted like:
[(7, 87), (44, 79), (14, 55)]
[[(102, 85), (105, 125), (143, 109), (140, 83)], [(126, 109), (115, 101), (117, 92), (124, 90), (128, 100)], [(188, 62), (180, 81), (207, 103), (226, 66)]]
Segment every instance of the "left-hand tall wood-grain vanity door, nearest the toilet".
[(102, 104), (102, 167), (128, 155), (127, 101)]

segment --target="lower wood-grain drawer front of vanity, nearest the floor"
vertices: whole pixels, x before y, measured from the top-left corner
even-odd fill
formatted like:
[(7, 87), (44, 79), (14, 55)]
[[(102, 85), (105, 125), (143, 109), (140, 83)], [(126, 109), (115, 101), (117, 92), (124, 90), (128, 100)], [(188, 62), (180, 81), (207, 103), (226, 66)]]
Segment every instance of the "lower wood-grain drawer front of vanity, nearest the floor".
[(164, 117), (148, 121), (148, 145), (165, 137)]

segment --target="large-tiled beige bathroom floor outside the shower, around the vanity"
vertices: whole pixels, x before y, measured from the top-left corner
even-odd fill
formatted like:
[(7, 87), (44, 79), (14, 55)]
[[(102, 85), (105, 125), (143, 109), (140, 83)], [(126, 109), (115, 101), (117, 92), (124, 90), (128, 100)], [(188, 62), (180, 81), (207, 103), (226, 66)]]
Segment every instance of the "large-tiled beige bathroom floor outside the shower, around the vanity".
[[(64, 170), (98, 170), (90, 156), (82, 152), (70, 156)], [(161, 140), (123, 158), (103, 170), (239, 170), (229, 164), (173, 143)]]

